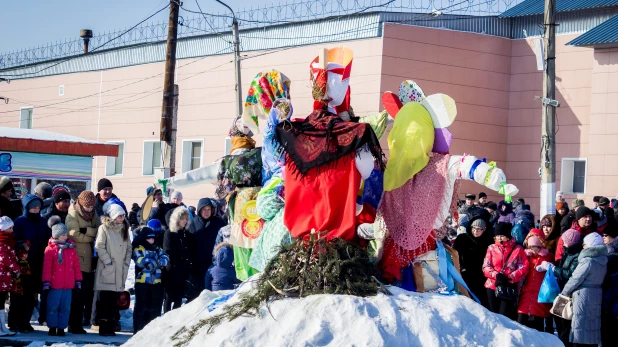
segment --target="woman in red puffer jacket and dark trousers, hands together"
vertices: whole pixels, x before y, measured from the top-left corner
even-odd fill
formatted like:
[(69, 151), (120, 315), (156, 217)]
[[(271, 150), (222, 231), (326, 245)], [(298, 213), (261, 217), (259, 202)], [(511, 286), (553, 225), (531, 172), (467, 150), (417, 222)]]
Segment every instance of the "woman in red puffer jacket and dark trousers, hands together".
[(515, 286), (528, 274), (528, 257), (524, 249), (511, 237), (511, 223), (500, 222), (494, 229), (494, 244), (490, 245), (483, 261), (483, 274), (487, 278), (489, 310), (516, 319), (515, 300), (503, 300), (496, 296), (496, 286)]

